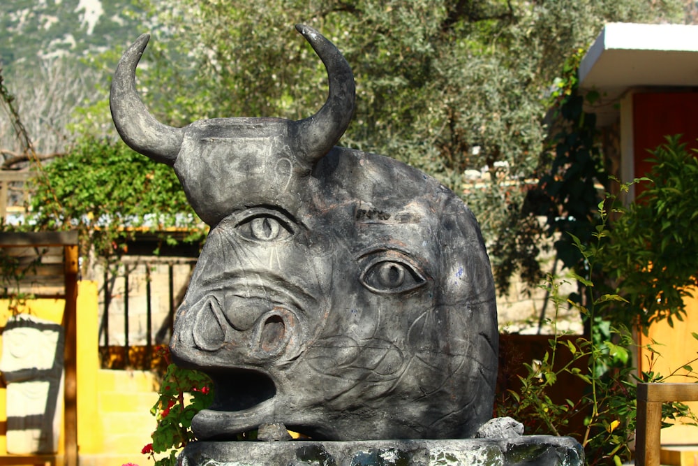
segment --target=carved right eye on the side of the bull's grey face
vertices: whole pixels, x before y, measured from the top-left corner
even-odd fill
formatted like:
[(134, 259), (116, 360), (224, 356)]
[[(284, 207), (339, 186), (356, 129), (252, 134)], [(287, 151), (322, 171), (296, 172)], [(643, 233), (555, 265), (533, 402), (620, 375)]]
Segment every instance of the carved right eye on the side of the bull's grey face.
[(359, 281), (375, 293), (404, 293), (426, 284), (426, 278), (415, 265), (393, 254), (371, 261)]

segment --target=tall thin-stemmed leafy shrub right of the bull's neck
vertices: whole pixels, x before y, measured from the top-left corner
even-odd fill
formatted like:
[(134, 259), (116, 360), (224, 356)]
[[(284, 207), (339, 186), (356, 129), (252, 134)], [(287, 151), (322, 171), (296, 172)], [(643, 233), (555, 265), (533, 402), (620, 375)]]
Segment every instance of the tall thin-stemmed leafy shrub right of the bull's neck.
[[(628, 191), (628, 184), (621, 185), (621, 190)], [(524, 364), (526, 374), (518, 377), (520, 387), (510, 388), (497, 405), (499, 416), (526, 419), (528, 433), (577, 437), (584, 446), (590, 465), (609, 461), (621, 465), (630, 459), (629, 444), (634, 438), (637, 412), (637, 381), (666, 381), (679, 374), (698, 379), (691, 366), (698, 358), (681, 365), (665, 377), (653, 372), (652, 367), (638, 376), (637, 370), (630, 365), (630, 349), (634, 347), (632, 333), (623, 319), (613, 319), (614, 312), (629, 307), (630, 303), (619, 294), (597, 290), (602, 287), (595, 286), (591, 277), (609, 248), (610, 214), (625, 212), (623, 208), (614, 207), (615, 201), (615, 196), (607, 194), (604, 201), (597, 205), (600, 224), (591, 233), (593, 241), (588, 245), (570, 234), (587, 271), (584, 276), (572, 272), (572, 279), (577, 280), (586, 291), (587, 304), (560, 296), (560, 282), (553, 277), (547, 279), (545, 286), (555, 307), (552, 321), (555, 331), (549, 339), (549, 348), (541, 361)], [(652, 293), (653, 289), (647, 292)], [(556, 318), (560, 307), (565, 304), (575, 307), (591, 323), (589, 337), (570, 340), (558, 334)], [(648, 350), (656, 353), (653, 346)], [(558, 361), (563, 356), (561, 351), (570, 354), (565, 355), (564, 363)], [(552, 393), (560, 390), (556, 384), (563, 376), (571, 376), (584, 384), (586, 391), (581, 399), (553, 400)], [(678, 402), (664, 404), (662, 415), (669, 419), (692, 416), (688, 407)], [(574, 430), (575, 416), (582, 417), (581, 431)]]

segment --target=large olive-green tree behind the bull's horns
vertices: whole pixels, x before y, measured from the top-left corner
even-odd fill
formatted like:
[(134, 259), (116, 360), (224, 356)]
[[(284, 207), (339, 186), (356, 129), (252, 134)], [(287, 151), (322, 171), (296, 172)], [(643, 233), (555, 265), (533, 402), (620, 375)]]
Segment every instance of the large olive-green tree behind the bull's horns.
[[(144, 55), (140, 89), (170, 124), (310, 115), (325, 98), (325, 71), (292, 24), (322, 31), (357, 82), (341, 143), (406, 161), (461, 194), (493, 245), (500, 291), (522, 265), (531, 282), (540, 272), (542, 227), (523, 199), (526, 180), (551, 168), (544, 115), (565, 60), (605, 22), (681, 15), (678, 1), (646, 0), (179, 0), (145, 9), (165, 26)], [(491, 181), (472, 189), (464, 171), (482, 168)]]

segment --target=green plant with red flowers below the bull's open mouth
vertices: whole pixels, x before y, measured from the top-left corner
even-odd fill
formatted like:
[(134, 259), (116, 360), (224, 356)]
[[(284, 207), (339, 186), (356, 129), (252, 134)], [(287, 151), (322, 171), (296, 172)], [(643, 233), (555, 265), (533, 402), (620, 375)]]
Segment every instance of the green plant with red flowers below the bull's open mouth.
[[(213, 382), (202, 372), (182, 369), (172, 363), (167, 347), (158, 351), (168, 366), (158, 391), (158, 401), (150, 410), (157, 420), (153, 442), (144, 446), (141, 453), (155, 460), (156, 466), (175, 466), (179, 450), (195, 440), (191, 419), (213, 402)], [(156, 454), (160, 453), (166, 454), (156, 459)]]

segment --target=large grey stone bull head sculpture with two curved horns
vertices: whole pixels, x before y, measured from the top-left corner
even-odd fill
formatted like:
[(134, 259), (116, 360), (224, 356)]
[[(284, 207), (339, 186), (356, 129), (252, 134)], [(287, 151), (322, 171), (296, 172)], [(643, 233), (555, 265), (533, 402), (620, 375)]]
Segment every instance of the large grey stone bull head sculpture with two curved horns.
[(297, 30), (329, 76), (326, 103), (300, 121), (161, 124), (135, 90), (147, 35), (114, 73), (121, 138), (172, 166), (211, 226), (170, 344), (214, 380), (195, 435), (283, 423), (315, 439), (469, 437), (491, 417), (498, 357), (480, 229), (424, 173), (334, 147), (354, 78), (318, 31)]

